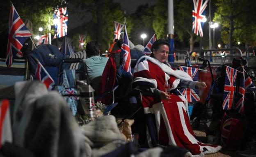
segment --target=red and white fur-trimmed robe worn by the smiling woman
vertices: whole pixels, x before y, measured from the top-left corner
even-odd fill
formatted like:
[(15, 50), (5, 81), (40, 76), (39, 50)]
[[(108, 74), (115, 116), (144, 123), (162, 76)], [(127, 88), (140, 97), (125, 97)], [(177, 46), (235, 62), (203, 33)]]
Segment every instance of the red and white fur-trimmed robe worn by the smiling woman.
[(165, 84), (170, 84), (171, 88), (169, 101), (160, 100), (158, 95), (142, 97), (152, 143), (179, 146), (187, 149), (188, 154), (196, 156), (216, 153), (221, 146), (203, 144), (194, 136), (187, 115), (186, 100), (177, 90), (181, 80), (192, 82), (192, 78), (187, 73), (174, 71), (166, 64), (149, 56), (141, 57), (135, 66), (134, 87), (165, 91)]

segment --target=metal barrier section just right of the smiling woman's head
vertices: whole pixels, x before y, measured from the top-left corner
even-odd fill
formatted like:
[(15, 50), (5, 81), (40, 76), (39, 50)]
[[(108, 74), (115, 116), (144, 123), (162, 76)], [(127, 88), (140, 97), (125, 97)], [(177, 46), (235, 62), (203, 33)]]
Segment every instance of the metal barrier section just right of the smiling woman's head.
[[(175, 53), (175, 59), (174, 62), (169, 62), (169, 64), (171, 64), (171, 66), (178, 66), (178, 65), (188, 65), (189, 62), (189, 53), (186, 50), (183, 51), (170, 51), (173, 52), (172, 54), (169, 53), (169, 55), (174, 55)], [(168, 55), (168, 56), (169, 56)]]

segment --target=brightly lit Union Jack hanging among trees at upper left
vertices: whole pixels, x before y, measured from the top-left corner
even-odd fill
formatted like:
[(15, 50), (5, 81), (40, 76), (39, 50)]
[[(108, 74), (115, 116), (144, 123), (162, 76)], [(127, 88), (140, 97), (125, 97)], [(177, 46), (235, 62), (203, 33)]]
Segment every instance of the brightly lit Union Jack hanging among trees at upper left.
[(53, 22), (55, 26), (55, 38), (61, 38), (67, 35), (68, 32), (68, 13), (67, 8), (57, 8), (54, 11)]

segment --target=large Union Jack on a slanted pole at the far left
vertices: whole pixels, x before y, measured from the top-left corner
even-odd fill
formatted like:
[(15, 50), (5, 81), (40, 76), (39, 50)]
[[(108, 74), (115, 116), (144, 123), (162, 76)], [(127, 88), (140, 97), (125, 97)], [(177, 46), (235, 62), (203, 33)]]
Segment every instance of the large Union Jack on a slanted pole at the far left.
[(11, 4), (11, 11), (9, 16), (9, 35), (6, 52), (6, 65), (10, 67), (12, 61), (16, 57), (23, 57), (21, 48), (24, 42), (31, 36), (30, 31), (25, 27), (25, 24), (18, 15), (18, 12)]

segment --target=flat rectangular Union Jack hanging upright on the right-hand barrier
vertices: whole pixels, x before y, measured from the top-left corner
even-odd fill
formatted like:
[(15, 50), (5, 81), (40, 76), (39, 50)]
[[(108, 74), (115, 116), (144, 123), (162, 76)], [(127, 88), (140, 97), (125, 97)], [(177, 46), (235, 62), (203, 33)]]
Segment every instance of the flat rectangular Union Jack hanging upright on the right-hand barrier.
[(222, 104), (224, 110), (230, 110), (232, 107), (236, 88), (236, 76), (237, 71), (229, 66), (226, 66), (226, 76)]

